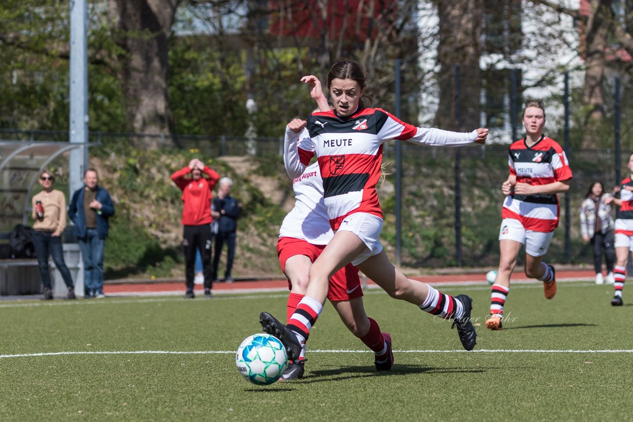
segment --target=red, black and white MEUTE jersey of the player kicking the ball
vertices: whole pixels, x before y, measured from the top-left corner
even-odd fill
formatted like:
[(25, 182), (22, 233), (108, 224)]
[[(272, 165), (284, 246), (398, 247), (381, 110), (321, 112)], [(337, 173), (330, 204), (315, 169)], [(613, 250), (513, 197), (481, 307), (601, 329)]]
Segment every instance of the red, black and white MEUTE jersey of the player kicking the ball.
[(386, 140), (461, 146), (477, 139), (476, 131), (418, 128), (379, 108), (359, 109), (347, 117), (338, 116), (334, 110), (317, 112), (307, 123), (297, 144), (296, 156), (301, 161), (297, 170), (307, 166), (316, 154), (325, 206), (334, 230), (349, 214), (370, 213), (382, 218), (375, 186), (380, 178), (382, 144)]

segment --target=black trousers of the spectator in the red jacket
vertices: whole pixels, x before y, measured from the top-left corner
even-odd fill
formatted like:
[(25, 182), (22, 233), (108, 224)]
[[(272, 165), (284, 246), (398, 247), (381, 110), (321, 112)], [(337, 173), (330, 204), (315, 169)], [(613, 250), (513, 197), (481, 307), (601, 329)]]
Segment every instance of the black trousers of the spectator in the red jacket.
[(194, 288), (194, 273), (196, 267), (196, 249), (202, 257), (202, 271), (204, 274), (204, 289), (211, 289), (211, 226), (184, 226), (182, 230), (182, 247), (185, 252), (185, 284), (187, 290)]

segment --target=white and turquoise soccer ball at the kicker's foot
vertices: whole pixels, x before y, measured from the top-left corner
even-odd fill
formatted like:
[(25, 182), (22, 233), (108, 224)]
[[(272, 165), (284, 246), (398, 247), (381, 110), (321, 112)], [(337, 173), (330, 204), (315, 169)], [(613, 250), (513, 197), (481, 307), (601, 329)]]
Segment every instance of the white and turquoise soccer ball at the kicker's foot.
[(257, 385), (268, 385), (279, 380), (287, 361), (282, 342), (265, 333), (247, 337), (235, 353), (235, 365), (239, 373)]

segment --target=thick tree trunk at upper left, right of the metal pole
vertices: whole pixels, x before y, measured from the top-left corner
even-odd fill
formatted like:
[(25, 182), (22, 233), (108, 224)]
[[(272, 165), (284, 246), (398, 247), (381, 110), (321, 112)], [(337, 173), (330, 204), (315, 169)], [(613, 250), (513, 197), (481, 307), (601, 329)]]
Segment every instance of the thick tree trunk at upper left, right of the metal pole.
[[(119, 73), (128, 128), (169, 135), (173, 128), (168, 92), (168, 46), (180, 0), (108, 0), (113, 36), (125, 53)], [(173, 145), (170, 137), (139, 139), (145, 146)]]

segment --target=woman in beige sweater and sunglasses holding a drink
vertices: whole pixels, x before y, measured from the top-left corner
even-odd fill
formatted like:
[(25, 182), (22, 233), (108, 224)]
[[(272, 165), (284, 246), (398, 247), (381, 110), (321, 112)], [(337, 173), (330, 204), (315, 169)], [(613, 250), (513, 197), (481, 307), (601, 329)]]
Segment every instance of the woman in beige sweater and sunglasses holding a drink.
[(61, 245), (61, 234), (66, 228), (66, 197), (59, 190), (53, 189), (54, 181), (53, 173), (47, 170), (42, 171), (39, 182), (44, 189), (31, 201), (32, 218), (35, 220), (32, 239), (42, 276), (42, 285), (44, 285), (42, 299), (53, 299), (51, 276), (48, 272), (49, 256), (53, 257), (55, 266), (60, 270), (61, 277), (68, 288), (66, 299), (76, 299), (75, 285), (64, 262), (64, 251)]

